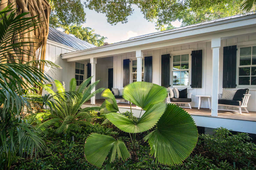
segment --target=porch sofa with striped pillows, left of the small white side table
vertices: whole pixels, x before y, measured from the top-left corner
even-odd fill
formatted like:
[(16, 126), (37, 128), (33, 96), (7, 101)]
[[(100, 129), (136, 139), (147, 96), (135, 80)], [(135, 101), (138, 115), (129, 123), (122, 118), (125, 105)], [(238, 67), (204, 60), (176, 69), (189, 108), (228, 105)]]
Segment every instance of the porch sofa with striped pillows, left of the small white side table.
[(192, 93), (188, 93), (188, 89), (185, 88), (183, 90), (178, 90), (177, 88), (167, 88), (168, 96), (167, 96), (167, 103), (174, 103), (174, 104), (188, 104), (188, 107), (186, 106), (180, 106), (184, 108), (190, 108), (190, 103), (192, 102), (191, 96)]

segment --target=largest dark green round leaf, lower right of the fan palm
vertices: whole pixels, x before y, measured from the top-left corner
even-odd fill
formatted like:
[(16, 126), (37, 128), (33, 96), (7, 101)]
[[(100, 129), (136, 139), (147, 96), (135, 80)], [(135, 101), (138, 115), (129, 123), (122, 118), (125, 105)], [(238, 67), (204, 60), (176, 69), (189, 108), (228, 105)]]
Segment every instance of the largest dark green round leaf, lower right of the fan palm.
[(156, 162), (180, 164), (196, 146), (198, 138), (196, 124), (181, 107), (168, 104), (158, 121), (157, 129), (144, 137), (151, 147), (150, 154)]

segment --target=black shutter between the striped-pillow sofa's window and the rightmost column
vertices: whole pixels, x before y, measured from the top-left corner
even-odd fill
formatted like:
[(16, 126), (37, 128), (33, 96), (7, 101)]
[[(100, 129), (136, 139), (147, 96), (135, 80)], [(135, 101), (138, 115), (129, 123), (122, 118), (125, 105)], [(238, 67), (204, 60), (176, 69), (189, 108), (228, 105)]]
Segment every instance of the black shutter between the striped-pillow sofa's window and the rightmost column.
[(191, 87), (202, 88), (203, 50), (192, 51), (191, 56)]

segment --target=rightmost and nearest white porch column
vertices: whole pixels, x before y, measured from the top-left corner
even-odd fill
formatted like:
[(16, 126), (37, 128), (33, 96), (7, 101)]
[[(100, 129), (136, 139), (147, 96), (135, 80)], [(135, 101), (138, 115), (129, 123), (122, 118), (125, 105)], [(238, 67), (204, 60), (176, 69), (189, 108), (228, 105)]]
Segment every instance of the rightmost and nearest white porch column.
[(218, 116), (220, 38), (212, 39), (212, 116)]

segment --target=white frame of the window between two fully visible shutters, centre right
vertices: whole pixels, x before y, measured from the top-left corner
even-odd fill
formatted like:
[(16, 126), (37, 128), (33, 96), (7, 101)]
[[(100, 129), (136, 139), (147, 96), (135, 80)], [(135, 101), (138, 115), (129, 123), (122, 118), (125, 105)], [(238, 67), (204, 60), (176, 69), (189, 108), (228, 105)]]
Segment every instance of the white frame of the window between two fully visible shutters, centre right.
[[(177, 87), (177, 88), (189, 88), (191, 84), (191, 53), (193, 49), (187, 49), (187, 50), (179, 50), (179, 51), (171, 51), (170, 52), (170, 84), (171, 87)], [(173, 85), (173, 56), (176, 55), (183, 55), (183, 54), (188, 54), (189, 55), (189, 69), (186, 69), (189, 71), (189, 84), (188, 86), (174, 86)], [(177, 71), (182, 71), (182, 70), (177, 70)]]

